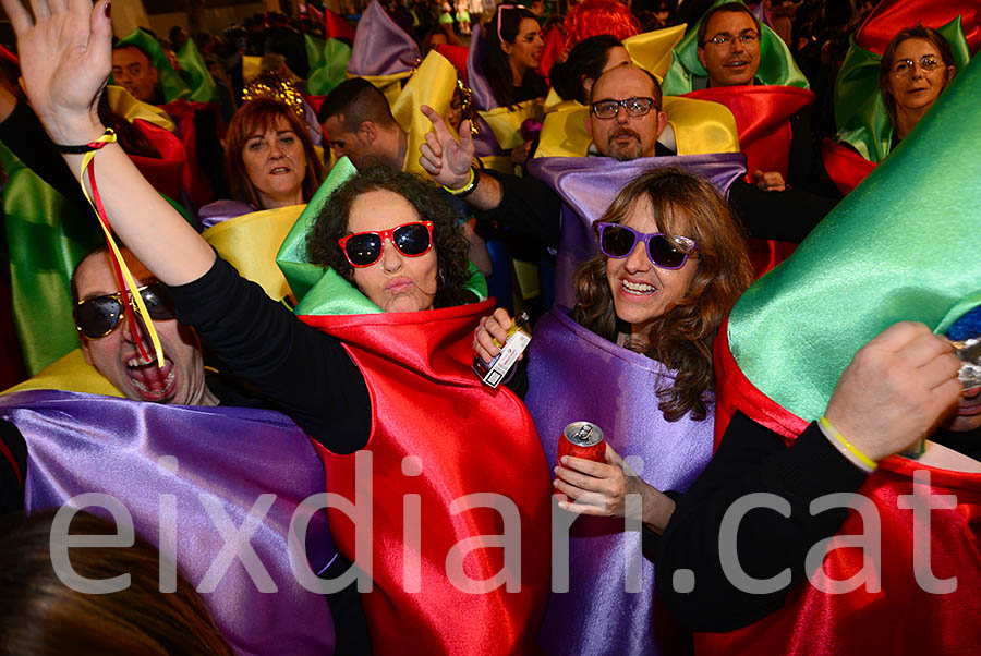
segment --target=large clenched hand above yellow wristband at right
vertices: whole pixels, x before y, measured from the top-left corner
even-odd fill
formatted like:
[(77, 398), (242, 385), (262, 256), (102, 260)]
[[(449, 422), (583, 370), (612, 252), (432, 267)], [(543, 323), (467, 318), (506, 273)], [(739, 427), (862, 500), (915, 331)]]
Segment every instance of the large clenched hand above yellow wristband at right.
[(925, 437), (958, 402), (960, 361), (923, 324), (891, 326), (862, 347), (838, 379), (825, 416), (872, 460)]

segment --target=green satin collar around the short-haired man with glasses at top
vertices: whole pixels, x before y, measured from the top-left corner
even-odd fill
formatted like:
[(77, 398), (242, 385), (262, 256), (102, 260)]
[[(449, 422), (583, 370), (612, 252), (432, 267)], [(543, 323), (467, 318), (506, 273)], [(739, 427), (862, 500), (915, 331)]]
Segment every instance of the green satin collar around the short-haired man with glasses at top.
[[(731, 0), (716, 0), (708, 9), (718, 4), (725, 4)], [(688, 34), (675, 47), (671, 65), (664, 83), (661, 85), (666, 96), (680, 96), (693, 90), (692, 77), (707, 77), (708, 72), (698, 56), (700, 19), (688, 29)], [(787, 44), (768, 25), (761, 25), (760, 34), (760, 69), (756, 71), (756, 80), (766, 85), (796, 86), (808, 88), (808, 78), (804, 77)]]

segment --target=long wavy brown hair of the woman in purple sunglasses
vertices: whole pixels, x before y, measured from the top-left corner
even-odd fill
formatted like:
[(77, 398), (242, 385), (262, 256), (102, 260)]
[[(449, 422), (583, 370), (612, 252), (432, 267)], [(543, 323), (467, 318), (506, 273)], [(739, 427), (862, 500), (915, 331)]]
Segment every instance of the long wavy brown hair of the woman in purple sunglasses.
[[(685, 296), (653, 321), (646, 343), (632, 348), (677, 372), (674, 385), (657, 394), (665, 418), (676, 422), (691, 413), (692, 418), (704, 420), (708, 412), (704, 393), (715, 389), (712, 343), (753, 280), (746, 240), (715, 187), (675, 167), (653, 169), (629, 182), (600, 221), (621, 222), (644, 197), (669, 239), (681, 234), (695, 241), (698, 269)], [(572, 319), (616, 341), (627, 330), (621, 330), (616, 315), (606, 262), (601, 254), (576, 270)]]

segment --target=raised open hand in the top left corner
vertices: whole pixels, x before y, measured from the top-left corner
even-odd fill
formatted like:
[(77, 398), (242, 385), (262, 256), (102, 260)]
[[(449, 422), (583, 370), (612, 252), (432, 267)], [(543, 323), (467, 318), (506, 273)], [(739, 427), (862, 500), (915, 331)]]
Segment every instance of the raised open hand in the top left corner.
[(109, 2), (2, 0), (17, 35), (27, 98), (51, 137), (82, 144), (102, 133), (99, 95), (112, 65)]

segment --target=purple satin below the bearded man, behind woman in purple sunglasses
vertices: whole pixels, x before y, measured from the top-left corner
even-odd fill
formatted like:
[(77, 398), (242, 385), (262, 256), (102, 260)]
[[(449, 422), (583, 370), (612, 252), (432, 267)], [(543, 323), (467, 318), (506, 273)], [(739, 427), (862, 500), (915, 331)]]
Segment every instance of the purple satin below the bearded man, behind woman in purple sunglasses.
[(562, 197), (561, 233), (556, 256), (555, 302), (571, 307), (576, 302), (572, 274), (595, 255), (592, 226), (609, 207), (620, 190), (644, 171), (659, 167), (681, 167), (712, 183), (723, 195), (746, 174), (741, 153), (645, 157), (616, 161), (608, 157), (543, 157), (528, 162), (532, 175)]

